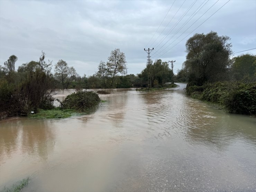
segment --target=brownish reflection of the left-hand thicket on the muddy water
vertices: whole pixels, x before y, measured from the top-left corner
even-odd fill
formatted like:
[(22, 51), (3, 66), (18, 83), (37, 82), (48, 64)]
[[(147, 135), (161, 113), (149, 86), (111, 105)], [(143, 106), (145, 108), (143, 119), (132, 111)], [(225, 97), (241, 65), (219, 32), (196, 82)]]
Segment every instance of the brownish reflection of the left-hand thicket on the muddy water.
[(1, 159), (20, 151), (47, 160), (54, 147), (54, 133), (47, 121), (13, 118), (1, 122), (0, 145)]

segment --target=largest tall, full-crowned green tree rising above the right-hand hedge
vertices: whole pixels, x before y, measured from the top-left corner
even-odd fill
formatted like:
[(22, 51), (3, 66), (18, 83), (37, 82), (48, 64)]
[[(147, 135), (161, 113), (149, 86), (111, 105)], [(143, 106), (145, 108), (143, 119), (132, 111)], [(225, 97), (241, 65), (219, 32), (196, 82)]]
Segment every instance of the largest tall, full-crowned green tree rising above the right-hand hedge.
[(202, 85), (206, 81), (222, 80), (228, 71), (229, 56), (232, 53), (230, 37), (218, 36), (214, 31), (208, 34), (194, 34), (186, 42), (185, 67), (189, 81)]

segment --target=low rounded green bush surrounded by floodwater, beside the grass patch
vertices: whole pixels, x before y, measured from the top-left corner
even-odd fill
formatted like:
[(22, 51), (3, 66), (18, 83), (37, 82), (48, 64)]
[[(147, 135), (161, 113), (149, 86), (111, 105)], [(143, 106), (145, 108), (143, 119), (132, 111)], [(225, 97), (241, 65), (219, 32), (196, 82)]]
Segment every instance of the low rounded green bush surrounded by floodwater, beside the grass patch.
[(97, 106), (100, 102), (99, 95), (92, 91), (79, 91), (67, 95), (62, 102), (64, 109), (85, 111)]

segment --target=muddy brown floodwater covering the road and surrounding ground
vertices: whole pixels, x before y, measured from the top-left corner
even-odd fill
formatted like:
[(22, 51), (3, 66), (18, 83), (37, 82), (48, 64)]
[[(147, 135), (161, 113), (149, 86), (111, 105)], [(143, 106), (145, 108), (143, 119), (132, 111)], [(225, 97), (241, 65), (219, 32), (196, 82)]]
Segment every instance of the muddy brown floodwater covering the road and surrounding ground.
[(256, 119), (179, 86), (110, 90), (88, 115), (0, 121), (0, 190), (30, 176), (23, 191), (256, 191)]

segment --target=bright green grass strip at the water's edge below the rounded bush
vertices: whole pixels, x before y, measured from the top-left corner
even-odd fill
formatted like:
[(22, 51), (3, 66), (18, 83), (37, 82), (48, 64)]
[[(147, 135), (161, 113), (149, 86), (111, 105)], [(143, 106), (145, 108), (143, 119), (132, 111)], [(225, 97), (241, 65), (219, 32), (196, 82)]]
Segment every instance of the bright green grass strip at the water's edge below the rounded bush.
[(68, 118), (73, 115), (79, 114), (76, 110), (73, 109), (61, 109), (60, 107), (54, 109), (39, 109), (37, 113), (29, 114), (28, 116), (31, 118), (38, 119), (63, 119)]

